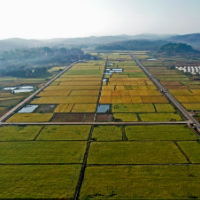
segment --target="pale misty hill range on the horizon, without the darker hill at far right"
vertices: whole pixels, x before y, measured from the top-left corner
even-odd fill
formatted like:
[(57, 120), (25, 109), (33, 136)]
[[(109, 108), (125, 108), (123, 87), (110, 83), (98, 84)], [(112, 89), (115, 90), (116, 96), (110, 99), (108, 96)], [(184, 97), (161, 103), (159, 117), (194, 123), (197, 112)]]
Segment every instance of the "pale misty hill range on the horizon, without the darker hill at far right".
[(90, 36), (83, 38), (54, 38), (46, 40), (35, 39), (21, 39), (10, 38), (0, 40), (0, 51), (8, 51), (12, 49), (31, 48), (31, 47), (43, 47), (43, 46), (70, 46), (70, 45), (93, 45), (93, 44), (107, 44), (112, 42), (128, 41), (128, 40), (161, 40), (166, 39), (174, 35), (165, 34), (140, 34), (140, 35), (117, 35), (117, 36)]

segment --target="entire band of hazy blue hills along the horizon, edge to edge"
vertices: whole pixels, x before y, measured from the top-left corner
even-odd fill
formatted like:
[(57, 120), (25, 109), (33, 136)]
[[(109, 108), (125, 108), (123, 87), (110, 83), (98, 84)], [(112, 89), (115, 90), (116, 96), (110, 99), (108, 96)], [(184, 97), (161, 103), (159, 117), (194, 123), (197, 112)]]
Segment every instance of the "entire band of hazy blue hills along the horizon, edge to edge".
[(124, 42), (130, 40), (165, 40), (175, 43), (186, 43), (193, 47), (200, 47), (200, 33), (175, 35), (175, 34), (139, 34), (139, 35), (116, 35), (116, 36), (90, 36), (80, 38), (54, 38), (45, 40), (10, 38), (0, 40), (0, 51), (9, 51), (13, 49), (24, 49), (32, 47), (72, 47), (78, 45), (102, 45), (115, 42)]

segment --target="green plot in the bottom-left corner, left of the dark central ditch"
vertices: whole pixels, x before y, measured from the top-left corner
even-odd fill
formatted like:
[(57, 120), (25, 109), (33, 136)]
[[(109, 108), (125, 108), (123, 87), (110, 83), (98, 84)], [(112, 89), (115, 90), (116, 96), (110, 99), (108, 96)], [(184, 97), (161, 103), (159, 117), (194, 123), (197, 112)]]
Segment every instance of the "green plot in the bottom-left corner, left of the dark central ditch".
[(1, 165), (0, 198), (72, 199), (80, 170), (81, 165)]

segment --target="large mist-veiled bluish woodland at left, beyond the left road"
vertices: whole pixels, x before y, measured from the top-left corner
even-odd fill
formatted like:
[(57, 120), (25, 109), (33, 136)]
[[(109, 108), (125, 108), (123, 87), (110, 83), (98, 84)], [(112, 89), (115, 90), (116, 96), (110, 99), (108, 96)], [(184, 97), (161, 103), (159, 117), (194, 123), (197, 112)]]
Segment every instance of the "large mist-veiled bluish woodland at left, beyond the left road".
[(27, 48), (4, 51), (0, 54), (0, 75), (38, 77), (47, 74), (47, 67), (66, 65), (82, 59), (91, 59), (78, 48)]

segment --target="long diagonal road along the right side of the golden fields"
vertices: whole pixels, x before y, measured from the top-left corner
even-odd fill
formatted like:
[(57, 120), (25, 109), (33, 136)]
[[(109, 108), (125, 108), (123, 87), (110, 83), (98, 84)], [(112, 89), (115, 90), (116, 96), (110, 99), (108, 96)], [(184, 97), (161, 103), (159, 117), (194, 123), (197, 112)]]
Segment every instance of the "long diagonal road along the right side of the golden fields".
[(161, 85), (161, 83), (135, 58), (135, 56), (129, 52), (133, 60), (142, 68), (142, 70), (147, 74), (147, 76), (152, 80), (152, 82), (160, 89), (161, 92), (174, 104), (174, 106), (182, 113), (182, 115), (193, 124), (197, 129), (200, 129), (200, 123), (194, 119), (185, 108), (168, 92), (168, 90)]

